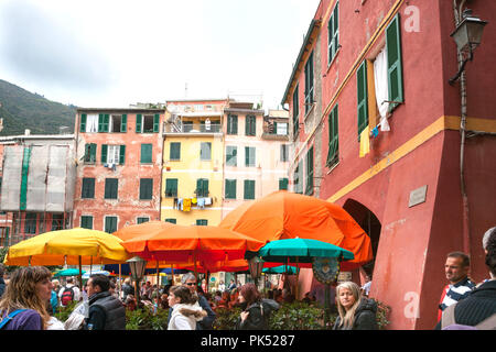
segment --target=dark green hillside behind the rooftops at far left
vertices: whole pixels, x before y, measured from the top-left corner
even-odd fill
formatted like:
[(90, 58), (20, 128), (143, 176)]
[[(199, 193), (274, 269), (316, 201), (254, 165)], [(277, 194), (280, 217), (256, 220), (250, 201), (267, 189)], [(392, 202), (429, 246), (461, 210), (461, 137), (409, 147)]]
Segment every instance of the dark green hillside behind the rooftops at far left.
[(0, 105), (0, 135), (24, 134), (25, 129), (32, 134), (58, 134), (63, 125), (74, 132), (76, 107), (47, 100), (1, 79)]

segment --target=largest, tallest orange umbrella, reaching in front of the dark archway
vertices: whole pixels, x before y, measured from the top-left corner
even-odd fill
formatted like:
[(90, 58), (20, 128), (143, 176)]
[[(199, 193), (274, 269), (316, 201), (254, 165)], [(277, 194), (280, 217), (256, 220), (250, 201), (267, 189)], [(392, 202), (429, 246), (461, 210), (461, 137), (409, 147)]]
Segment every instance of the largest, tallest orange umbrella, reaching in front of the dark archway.
[(219, 227), (265, 242), (298, 237), (332, 243), (355, 255), (342, 263), (343, 271), (373, 260), (370, 238), (346, 210), (323, 199), (285, 190), (241, 205)]

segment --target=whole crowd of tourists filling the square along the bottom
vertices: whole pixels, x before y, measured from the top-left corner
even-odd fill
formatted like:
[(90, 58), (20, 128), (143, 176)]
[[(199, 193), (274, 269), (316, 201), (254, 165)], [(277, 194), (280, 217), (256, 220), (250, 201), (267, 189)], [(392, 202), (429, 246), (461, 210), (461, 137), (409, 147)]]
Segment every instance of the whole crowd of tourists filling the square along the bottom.
[[(468, 277), (470, 257), (462, 252), (448, 254), (444, 273), (449, 284), (439, 302), (438, 324), (434, 329), (496, 329), (496, 228), (483, 238), (485, 264), (489, 277), (476, 285)], [(125, 330), (126, 310), (137, 308), (169, 310), (169, 330), (212, 330), (219, 309), (239, 308), (236, 329), (267, 330), (271, 314), (296, 298), (290, 287), (267, 287), (262, 295), (254, 283), (241, 285), (223, 282), (214, 292), (206, 280), (197, 283), (196, 275), (182, 275), (181, 284), (160, 286), (145, 282), (140, 299), (129, 278), (117, 290), (115, 278), (94, 274), (83, 289), (67, 278), (52, 279), (44, 266), (19, 267), (4, 280), (0, 264), (0, 330)], [(378, 329), (377, 304), (368, 298), (371, 280), (359, 287), (353, 282), (339, 283), (332, 290), (337, 314), (334, 330)], [(322, 292), (304, 295), (302, 301), (314, 305)], [(76, 302), (64, 322), (55, 314)]]

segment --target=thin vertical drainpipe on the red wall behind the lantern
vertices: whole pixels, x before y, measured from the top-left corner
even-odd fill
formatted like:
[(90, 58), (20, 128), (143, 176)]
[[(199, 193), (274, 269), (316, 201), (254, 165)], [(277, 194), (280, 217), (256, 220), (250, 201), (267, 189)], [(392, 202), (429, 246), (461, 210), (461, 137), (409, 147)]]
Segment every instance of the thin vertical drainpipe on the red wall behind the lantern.
[[(465, 4), (465, 0), (462, 0), (460, 3), (459, 10), (456, 9), (459, 0), (453, 1), (453, 11), (455, 18), (455, 28), (463, 20), (462, 19), (462, 9)], [(463, 53), (459, 52), (459, 68), (462, 68), (463, 65)], [(468, 218), (468, 197), (466, 195), (465, 188), (465, 165), (464, 165), (464, 156), (465, 156), (465, 139), (466, 139), (466, 75), (465, 70), (462, 72), (460, 76), (460, 96), (461, 96), (461, 122), (460, 122), (460, 134), (461, 134), (461, 143), (460, 143), (460, 190), (462, 194), (462, 206), (463, 206), (463, 219), (462, 219), (462, 230), (463, 230), (463, 251), (467, 254), (471, 253), (471, 235), (470, 235), (470, 218)]]

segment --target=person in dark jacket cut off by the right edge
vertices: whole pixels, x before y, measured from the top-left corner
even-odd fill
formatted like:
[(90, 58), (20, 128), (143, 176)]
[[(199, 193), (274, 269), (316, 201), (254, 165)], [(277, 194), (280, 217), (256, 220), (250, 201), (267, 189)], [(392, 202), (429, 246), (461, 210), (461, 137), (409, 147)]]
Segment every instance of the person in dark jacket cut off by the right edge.
[(485, 248), (490, 279), (445, 309), (436, 330), (496, 330), (496, 228)]

